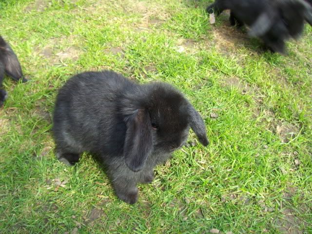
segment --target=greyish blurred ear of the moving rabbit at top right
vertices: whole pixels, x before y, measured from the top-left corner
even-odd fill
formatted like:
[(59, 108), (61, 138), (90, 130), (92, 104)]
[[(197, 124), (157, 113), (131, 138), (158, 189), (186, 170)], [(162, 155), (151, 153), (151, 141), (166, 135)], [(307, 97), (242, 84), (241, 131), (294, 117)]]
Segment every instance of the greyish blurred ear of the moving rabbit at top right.
[(248, 35), (250, 37), (259, 37), (265, 34), (273, 25), (273, 16), (268, 12), (262, 13), (251, 25)]

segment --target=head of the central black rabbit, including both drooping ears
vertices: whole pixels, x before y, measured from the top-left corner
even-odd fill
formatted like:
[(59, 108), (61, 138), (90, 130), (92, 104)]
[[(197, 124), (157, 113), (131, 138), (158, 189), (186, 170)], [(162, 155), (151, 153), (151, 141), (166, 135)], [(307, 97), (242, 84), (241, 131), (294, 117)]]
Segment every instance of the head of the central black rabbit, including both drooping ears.
[(165, 83), (142, 88), (136, 101), (123, 108), (127, 125), (124, 157), (132, 171), (140, 171), (153, 152), (168, 154), (182, 147), (190, 127), (200, 143), (208, 145), (203, 119), (180, 92)]

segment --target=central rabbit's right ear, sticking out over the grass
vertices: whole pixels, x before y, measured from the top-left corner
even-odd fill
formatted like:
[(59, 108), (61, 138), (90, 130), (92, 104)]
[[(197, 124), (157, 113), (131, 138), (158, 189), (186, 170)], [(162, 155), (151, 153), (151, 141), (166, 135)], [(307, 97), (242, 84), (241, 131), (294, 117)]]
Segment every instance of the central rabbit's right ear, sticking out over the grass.
[(189, 111), (189, 123), (191, 128), (198, 137), (199, 142), (202, 145), (207, 146), (209, 144), (209, 140), (207, 138), (204, 120), (191, 104), (189, 104), (188, 106), (188, 111)]

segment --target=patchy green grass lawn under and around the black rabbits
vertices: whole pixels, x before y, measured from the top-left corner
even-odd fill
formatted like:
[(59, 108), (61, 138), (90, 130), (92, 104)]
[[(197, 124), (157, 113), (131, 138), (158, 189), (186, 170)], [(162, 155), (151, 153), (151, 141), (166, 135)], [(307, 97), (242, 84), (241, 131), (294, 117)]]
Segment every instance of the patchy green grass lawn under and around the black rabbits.
[[(312, 27), (281, 56), (230, 27), (226, 14), (210, 25), (207, 4), (0, 2), (0, 35), (30, 79), (4, 81), (1, 233), (312, 233)], [(175, 85), (211, 141), (204, 148), (191, 133), (153, 183), (139, 186), (135, 205), (117, 199), (88, 154), (71, 168), (55, 156), (59, 87), (101, 69)]]

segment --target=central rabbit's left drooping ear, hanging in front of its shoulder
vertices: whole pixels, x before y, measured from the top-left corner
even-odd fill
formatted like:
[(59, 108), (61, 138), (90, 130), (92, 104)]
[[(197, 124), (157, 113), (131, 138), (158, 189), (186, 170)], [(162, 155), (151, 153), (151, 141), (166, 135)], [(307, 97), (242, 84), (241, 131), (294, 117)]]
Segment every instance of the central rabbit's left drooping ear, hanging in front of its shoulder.
[(127, 132), (123, 154), (130, 170), (142, 170), (153, 150), (151, 120), (147, 110), (137, 110), (127, 118)]

